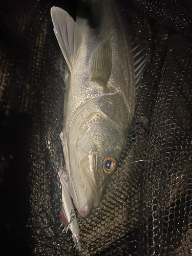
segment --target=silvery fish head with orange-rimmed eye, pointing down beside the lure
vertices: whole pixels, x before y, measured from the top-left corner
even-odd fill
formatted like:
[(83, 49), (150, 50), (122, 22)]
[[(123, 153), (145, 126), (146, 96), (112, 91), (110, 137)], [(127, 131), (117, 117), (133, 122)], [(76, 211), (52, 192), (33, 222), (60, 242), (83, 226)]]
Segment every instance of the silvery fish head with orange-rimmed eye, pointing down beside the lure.
[(81, 123), (73, 137), (70, 186), (82, 217), (88, 217), (99, 205), (105, 185), (117, 168), (125, 136), (116, 123), (95, 112)]

